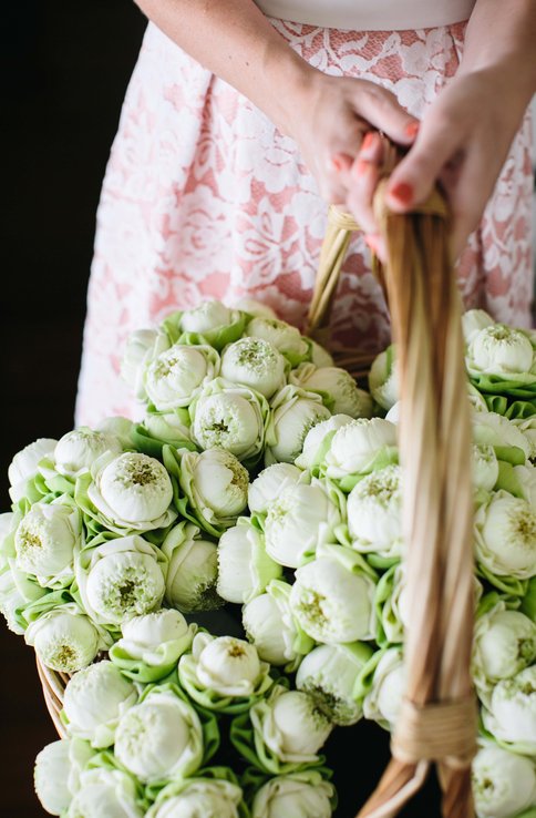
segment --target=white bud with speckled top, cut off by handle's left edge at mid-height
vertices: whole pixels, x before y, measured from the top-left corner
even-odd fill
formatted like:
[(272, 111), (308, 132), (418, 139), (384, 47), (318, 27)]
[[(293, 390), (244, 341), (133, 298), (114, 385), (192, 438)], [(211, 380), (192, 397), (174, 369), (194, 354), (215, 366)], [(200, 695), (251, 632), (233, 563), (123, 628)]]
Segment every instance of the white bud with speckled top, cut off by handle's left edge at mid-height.
[(400, 556), (402, 549), (402, 487), (400, 466), (364, 477), (348, 497), (348, 528), (352, 548), (363, 553)]

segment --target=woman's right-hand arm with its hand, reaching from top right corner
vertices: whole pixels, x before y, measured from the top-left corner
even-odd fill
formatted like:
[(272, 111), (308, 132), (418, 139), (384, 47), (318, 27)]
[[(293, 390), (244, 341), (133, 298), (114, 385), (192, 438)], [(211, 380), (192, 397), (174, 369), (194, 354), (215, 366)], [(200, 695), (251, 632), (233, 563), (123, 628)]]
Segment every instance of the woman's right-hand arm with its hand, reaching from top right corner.
[(398, 212), (426, 198), (440, 180), (453, 214), (457, 256), (486, 206), (536, 92), (534, 0), (477, 0), (456, 76), (423, 119), (391, 178)]

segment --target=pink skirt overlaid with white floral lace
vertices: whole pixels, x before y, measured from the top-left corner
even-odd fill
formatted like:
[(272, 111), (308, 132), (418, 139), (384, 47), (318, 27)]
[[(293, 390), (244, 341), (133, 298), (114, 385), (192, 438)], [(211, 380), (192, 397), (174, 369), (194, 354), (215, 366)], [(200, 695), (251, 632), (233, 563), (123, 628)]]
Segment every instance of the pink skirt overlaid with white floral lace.
[[(455, 73), (465, 29), (272, 23), (321, 71), (378, 82), (416, 116)], [(529, 324), (532, 300), (529, 129), (527, 116), (460, 264), (467, 307), (518, 326)], [(150, 24), (97, 213), (76, 421), (140, 417), (118, 374), (124, 342), (173, 309), (252, 297), (301, 326), (326, 217), (295, 142)], [(379, 349), (389, 341), (389, 316), (360, 234), (332, 324), (346, 344)]]

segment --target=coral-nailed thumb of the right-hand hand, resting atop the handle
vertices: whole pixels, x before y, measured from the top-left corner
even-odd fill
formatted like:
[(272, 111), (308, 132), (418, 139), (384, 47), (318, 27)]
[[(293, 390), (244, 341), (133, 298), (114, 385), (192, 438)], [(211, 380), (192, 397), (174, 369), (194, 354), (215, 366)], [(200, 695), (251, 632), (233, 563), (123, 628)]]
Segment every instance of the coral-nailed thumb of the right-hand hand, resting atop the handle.
[(460, 145), (452, 132), (434, 125), (426, 127), (425, 124), (389, 180), (386, 203), (395, 213), (405, 213), (424, 202), (445, 164), (458, 151)]

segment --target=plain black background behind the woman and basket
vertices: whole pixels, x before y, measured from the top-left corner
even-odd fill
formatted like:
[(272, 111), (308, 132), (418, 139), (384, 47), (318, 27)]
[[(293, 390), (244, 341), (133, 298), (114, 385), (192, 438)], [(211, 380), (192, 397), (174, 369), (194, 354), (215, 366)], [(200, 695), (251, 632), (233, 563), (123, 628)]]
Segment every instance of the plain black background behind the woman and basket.
[[(73, 425), (95, 211), (145, 20), (131, 0), (19, 0), (1, 17), (0, 508), (7, 511), (13, 454)], [(56, 736), (33, 652), (1, 617), (0, 661), (0, 815), (42, 817), (33, 759)], [(351, 734), (337, 730), (333, 744), (343, 770), (339, 815), (350, 818), (388, 758), (388, 740), (375, 725), (360, 724)], [(433, 818), (439, 809), (431, 804), (421, 799), (405, 815)]]

